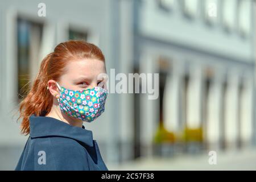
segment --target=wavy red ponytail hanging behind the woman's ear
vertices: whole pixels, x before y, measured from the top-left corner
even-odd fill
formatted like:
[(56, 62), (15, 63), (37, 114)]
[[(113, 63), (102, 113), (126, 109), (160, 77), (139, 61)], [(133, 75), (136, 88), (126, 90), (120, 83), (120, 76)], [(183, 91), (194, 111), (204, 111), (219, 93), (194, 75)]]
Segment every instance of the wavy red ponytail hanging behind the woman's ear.
[(49, 53), (46, 57), (44, 57), (40, 65), (38, 75), (33, 82), (32, 88), (30, 89), (24, 100), (20, 102), (19, 118), (23, 118), (20, 129), (21, 133), (24, 135), (30, 133), (30, 115), (34, 113), (36, 115), (42, 115), (43, 112), (44, 114), (48, 114), (51, 110), (53, 98), (51, 93), (47, 90), (47, 68), (51, 57), (52, 53)]

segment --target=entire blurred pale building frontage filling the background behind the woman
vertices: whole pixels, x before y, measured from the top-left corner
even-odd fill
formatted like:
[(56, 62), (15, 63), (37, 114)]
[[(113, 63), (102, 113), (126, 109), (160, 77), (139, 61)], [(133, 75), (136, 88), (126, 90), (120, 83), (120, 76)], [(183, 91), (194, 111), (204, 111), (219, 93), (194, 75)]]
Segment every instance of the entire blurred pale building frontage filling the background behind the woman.
[(20, 91), (68, 39), (99, 46), (108, 74), (159, 73), (157, 100), (109, 94), (85, 123), (107, 166), (255, 144), (254, 1), (47, 0), (45, 17), (40, 3), (0, 0), (0, 169), (15, 167), (27, 139), (13, 117)]

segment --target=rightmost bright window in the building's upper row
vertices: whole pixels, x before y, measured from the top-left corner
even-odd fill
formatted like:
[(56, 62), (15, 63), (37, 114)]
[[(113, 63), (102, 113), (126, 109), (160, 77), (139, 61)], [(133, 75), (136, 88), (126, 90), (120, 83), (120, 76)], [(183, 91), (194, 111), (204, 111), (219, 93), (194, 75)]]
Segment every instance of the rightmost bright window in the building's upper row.
[(249, 0), (238, 2), (238, 31), (242, 36), (250, 34), (251, 6)]

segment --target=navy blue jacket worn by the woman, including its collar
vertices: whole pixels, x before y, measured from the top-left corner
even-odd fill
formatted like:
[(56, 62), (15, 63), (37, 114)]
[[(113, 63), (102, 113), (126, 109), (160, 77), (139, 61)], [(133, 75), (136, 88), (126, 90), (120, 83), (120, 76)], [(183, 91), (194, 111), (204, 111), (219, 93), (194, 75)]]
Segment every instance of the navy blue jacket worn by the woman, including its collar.
[(108, 171), (108, 168), (92, 131), (33, 114), (30, 137), (15, 170)]

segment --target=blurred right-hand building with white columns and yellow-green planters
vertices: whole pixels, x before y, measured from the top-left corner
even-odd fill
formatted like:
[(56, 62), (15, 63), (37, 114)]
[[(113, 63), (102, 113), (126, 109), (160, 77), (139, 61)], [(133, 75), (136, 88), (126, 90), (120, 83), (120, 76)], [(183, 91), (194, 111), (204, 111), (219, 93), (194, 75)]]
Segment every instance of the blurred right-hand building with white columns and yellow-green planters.
[(160, 74), (159, 100), (135, 100), (135, 155), (255, 143), (254, 3), (135, 1), (134, 67)]

